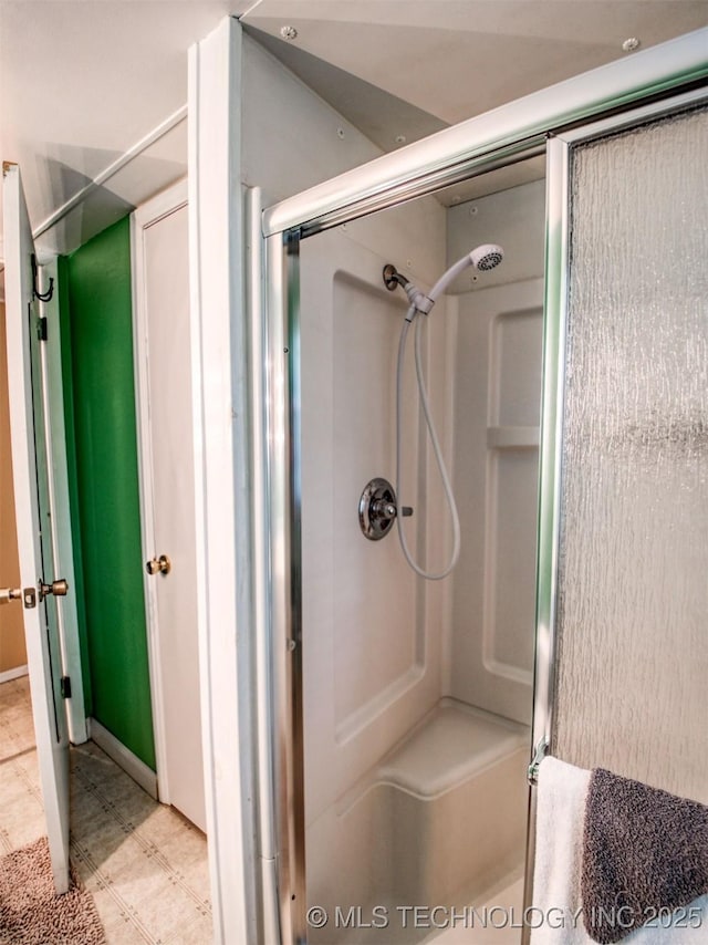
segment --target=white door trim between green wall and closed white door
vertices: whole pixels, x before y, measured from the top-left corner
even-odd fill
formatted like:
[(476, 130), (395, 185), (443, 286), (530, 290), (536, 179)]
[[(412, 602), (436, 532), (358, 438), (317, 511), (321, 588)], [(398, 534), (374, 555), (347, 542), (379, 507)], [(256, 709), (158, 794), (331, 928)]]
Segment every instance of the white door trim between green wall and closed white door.
[[(153, 440), (149, 412), (149, 345), (147, 324), (147, 272), (145, 268), (145, 230), (169, 214), (187, 206), (187, 180), (158, 194), (131, 214), (131, 256), (133, 284), (133, 362), (135, 366), (135, 407), (137, 414), (137, 458), (140, 502), (140, 534), (143, 561), (155, 553), (155, 491), (153, 476)], [(155, 735), (157, 795), (163, 803), (170, 802), (164, 681), (160, 652), (165, 641), (160, 635), (157, 585), (143, 572), (147, 651), (150, 676), (150, 703)]]

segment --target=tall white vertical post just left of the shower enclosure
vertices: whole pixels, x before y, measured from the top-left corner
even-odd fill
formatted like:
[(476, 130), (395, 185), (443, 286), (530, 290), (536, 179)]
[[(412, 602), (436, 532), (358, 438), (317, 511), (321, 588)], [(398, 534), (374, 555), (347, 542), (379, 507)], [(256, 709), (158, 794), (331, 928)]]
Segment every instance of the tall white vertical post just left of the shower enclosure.
[[(189, 281), (201, 730), (217, 945), (259, 928), (253, 823), (251, 416), (241, 194), (241, 28), (189, 50)], [(272, 861), (271, 861), (272, 862)], [(268, 936), (268, 937), (264, 937)]]

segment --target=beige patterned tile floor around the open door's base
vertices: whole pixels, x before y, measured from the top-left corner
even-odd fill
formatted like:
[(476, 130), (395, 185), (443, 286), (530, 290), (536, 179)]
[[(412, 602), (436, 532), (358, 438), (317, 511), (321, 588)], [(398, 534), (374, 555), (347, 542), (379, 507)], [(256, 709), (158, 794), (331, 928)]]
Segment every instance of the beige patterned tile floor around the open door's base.
[[(108, 945), (208, 945), (205, 835), (91, 741), (72, 748), (71, 771), (71, 858), (93, 893)], [(0, 851), (44, 832), (23, 677), (0, 685)]]

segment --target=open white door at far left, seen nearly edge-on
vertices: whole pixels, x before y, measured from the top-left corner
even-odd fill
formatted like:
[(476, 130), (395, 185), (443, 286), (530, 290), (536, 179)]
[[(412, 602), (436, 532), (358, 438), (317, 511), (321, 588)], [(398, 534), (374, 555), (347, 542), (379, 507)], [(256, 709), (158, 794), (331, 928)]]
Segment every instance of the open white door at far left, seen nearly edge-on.
[[(12, 466), (34, 733), (56, 891), (69, 889), (69, 738), (61, 696), (43, 375), (32, 231), (20, 169), (3, 164), (6, 321)], [(1, 577), (1, 575), (0, 575)], [(59, 590), (59, 588), (56, 589)], [(20, 591), (20, 589), (11, 589)], [(14, 596), (14, 594), (13, 594)]]

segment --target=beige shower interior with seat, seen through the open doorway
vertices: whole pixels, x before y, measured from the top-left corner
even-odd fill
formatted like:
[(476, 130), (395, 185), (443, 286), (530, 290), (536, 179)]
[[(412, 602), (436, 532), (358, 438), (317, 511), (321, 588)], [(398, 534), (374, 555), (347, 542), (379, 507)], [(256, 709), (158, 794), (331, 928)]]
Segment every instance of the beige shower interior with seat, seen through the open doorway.
[[(317, 908), (331, 916), (311, 928), (313, 943), (364, 941), (374, 906), (391, 924), (383, 939), (368, 934), (417, 941), (429, 928), (403, 927), (398, 905), (461, 907), (523, 874), (543, 159), (516, 174), (541, 179), (489, 194), (491, 175), (300, 245), (306, 905), (311, 920)], [(436, 575), (449, 565), (452, 521), (412, 344), (396, 471), (397, 359), (410, 309), (382, 271), (395, 259), (427, 308), (450, 263), (502, 237), (504, 262), (466, 268), (412, 328), (423, 334), (461, 536), (450, 574), (427, 581), (408, 567), (396, 528), (377, 541), (360, 528), (369, 480), (399, 482), (392, 503), (412, 512), (400, 516), (412, 559)]]

